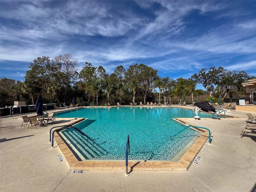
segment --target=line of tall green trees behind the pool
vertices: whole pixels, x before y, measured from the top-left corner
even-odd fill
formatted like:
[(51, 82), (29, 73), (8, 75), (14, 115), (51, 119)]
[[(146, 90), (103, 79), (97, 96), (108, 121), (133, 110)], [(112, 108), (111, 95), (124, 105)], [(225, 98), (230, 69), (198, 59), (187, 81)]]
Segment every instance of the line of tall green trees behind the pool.
[[(245, 94), (241, 85), (251, 76), (242, 71), (229, 71), (223, 67), (202, 69), (190, 78), (160, 77), (158, 70), (145, 64), (134, 64), (126, 70), (117, 66), (108, 74), (102, 66), (95, 67), (85, 62), (79, 72), (78, 60), (71, 54), (47, 56), (34, 59), (28, 66), (24, 82), (0, 78), (0, 102), (13, 105), (14, 100), (35, 104), (38, 94), (46, 103), (101, 102), (154, 102), (157, 98), (166, 102), (169, 98), (185, 98), (208, 93), (209, 97), (240, 98)], [(196, 90), (202, 84), (206, 91)], [(159, 90), (159, 92), (156, 91)]]

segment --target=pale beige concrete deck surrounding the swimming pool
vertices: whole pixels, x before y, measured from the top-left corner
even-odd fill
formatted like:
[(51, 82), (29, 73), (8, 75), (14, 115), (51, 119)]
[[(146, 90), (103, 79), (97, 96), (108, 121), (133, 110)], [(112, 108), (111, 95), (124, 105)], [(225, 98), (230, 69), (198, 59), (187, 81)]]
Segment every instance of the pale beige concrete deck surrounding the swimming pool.
[(212, 132), (211, 144), (206, 141), (198, 153), (200, 162), (192, 163), (188, 171), (134, 169), (128, 177), (125, 170), (73, 174), (65, 161), (59, 162), (60, 150), (49, 144), (49, 129), (56, 124), (27, 129), (20, 128), (20, 116), (0, 118), (0, 191), (255, 191), (256, 137), (240, 138), (248, 119), (246, 112), (230, 110), (227, 114), (238, 118), (181, 118)]

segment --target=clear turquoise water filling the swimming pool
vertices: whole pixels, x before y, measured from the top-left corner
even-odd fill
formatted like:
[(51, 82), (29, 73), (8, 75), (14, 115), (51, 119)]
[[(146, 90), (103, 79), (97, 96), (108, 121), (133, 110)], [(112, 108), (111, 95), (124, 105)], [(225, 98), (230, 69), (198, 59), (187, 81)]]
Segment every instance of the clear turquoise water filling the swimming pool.
[(57, 117), (88, 118), (76, 127), (91, 139), (73, 129), (63, 132), (84, 159), (124, 160), (129, 134), (130, 160), (171, 160), (198, 134), (187, 128), (170, 139), (185, 127), (172, 118), (194, 117), (193, 110), (183, 108), (84, 108), (61, 112)]

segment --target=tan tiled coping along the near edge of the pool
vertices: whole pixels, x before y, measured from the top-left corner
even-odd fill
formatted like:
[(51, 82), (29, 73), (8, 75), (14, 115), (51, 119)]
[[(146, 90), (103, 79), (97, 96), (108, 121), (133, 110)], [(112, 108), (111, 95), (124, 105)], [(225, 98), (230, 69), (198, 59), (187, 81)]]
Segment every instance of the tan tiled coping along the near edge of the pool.
[[(72, 122), (76, 124), (78, 121), (81, 121), (82, 118), (78, 118), (77, 121)], [(186, 122), (182, 118), (176, 118), (178, 122), (187, 125), (193, 125), (189, 122)], [(196, 125), (194, 125), (196, 126)], [(192, 164), (194, 158), (197, 156), (198, 152), (208, 140), (208, 131), (201, 130), (202, 136), (190, 147), (190, 149), (180, 158), (178, 162), (169, 162), (169, 161), (128, 161), (128, 170), (129, 171), (186, 171)], [(68, 167), (71, 170), (120, 170), (125, 171), (125, 161), (111, 161), (111, 160), (87, 160), (87, 161), (78, 161), (74, 156), (72, 151), (68, 148), (65, 142), (60, 138), (60, 136), (54, 134), (55, 143), (57, 144), (63, 158), (65, 159)]]

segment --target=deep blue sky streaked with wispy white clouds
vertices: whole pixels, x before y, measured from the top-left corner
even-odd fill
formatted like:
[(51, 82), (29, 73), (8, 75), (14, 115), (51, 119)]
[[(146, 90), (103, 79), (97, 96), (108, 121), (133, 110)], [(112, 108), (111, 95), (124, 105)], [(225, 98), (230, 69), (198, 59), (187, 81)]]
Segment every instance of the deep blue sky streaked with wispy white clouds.
[(174, 80), (214, 66), (256, 76), (256, 1), (0, 0), (0, 78), (66, 53), (108, 74), (137, 63)]

